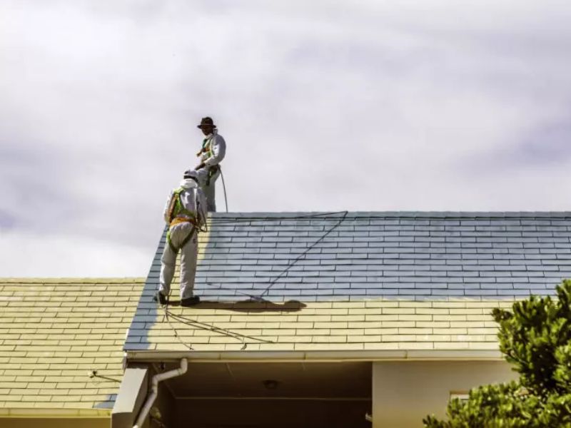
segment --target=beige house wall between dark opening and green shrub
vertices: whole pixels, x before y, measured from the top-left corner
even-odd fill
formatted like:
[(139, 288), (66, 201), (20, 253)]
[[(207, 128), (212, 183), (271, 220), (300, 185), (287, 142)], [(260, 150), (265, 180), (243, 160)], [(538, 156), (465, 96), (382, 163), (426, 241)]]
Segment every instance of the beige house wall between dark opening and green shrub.
[(506, 362), (438, 361), (373, 364), (373, 428), (415, 428), (445, 417), (450, 392), (517, 378)]

